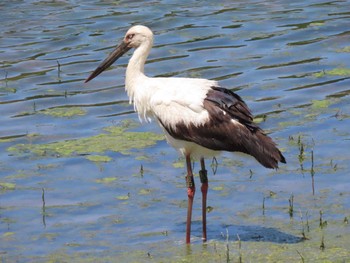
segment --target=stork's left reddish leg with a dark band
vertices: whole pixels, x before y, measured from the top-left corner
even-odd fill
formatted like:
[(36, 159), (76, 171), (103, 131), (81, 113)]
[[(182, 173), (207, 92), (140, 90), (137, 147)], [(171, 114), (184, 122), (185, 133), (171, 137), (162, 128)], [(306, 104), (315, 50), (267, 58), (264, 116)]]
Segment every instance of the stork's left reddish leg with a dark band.
[(186, 165), (187, 165), (187, 196), (188, 196), (188, 205), (187, 205), (187, 221), (186, 221), (186, 244), (191, 242), (191, 220), (192, 220), (192, 207), (193, 207), (193, 198), (196, 191), (192, 173), (191, 166), (191, 157), (186, 155)]

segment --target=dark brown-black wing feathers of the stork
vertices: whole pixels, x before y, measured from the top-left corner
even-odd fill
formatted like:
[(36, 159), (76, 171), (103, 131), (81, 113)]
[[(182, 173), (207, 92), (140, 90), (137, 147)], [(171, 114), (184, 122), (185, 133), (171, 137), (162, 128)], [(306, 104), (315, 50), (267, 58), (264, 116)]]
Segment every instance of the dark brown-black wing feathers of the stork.
[(243, 152), (254, 156), (262, 165), (277, 168), (285, 163), (275, 143), (255, 123), (248, 106), (236, 93), (212, 87), (203, 102), (209, 121), (200, 124), (164, 125), (175, 139), (194, 142), (211, 150)]

